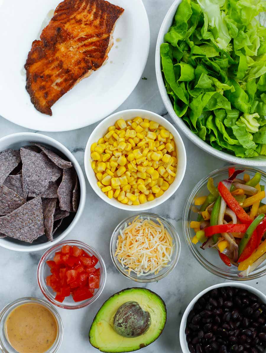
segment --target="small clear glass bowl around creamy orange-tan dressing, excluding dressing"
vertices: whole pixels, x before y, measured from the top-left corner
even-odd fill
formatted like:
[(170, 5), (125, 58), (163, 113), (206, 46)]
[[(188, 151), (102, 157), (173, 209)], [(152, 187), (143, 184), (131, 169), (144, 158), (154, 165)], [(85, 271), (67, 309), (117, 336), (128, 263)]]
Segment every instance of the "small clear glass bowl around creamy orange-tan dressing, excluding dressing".
[(3, 353), (17, 353), (16, 349), (14, 349), (10, 343), (8, 342), (6, 335), (5, 335), (5, 322), (9, 314), (11, 313), (12, 310), (14, 310), (16, 307), (22, 304), (28, 304), (28, 303), (36, 303), (36, 304), (41, 304), (45, 306), (48, 310), (50, 310), (56, 320), (57, 323), (57, 337), (54, 341), (54, 344), (52, 347), (48, 349), (46, 353), (56, 353), (58, 352), (61, 343), (63, 341), (63, 336), (64, 336), (64, 327), (62, 323), (62, 319), (58, 313), (58, 311), (53, 307), (53, 305), (47, 303), (47, 301), (44, 301), (42, 299), (38, 298), (20, 298), (15, 301), (13, 301), (10, 304), (7, 304), (4, 309), (0, 312), (0, 351)]

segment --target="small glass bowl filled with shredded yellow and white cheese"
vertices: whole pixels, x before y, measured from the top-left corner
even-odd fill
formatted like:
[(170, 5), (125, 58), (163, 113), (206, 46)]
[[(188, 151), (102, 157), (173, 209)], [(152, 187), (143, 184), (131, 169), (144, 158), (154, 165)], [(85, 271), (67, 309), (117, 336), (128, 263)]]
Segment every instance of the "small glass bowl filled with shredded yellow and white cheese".
[(154, 282), (175, 268), (180, 256), (180, 239), (165, 218), (139, 213), (117, 225), (111, 237), (110, 253), (122, 275), (136, 282)]

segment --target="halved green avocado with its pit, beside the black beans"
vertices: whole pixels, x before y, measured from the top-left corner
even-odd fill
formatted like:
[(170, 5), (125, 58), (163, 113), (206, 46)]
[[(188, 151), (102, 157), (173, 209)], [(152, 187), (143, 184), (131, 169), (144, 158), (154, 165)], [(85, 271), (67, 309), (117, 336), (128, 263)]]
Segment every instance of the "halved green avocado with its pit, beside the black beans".
[[(132, 305), (132, 303), (134, 304)], [(117, 315), (120, 315), (123, 320), (120, 323), (126, 334), (128, 334), (127, 323), (130, 321), (129, 324), (132, 326), (132, 320), (137, 329), (134, 332), (140, 334), (137, 337), (128, 337), (117, 333), (117, 331), (121, 333), (114, 327), (114, 319), (115, 323), (119, 322)], [(149, 320), (143, 319), (147, 317)], [(166, 318), (165, 303), (158, 294), (146, 288), (126, 288), (112, 295), (99, 309), (90, 328), (89, 340), (93, 347), (102, 352), (137, 351), (150, 345), (161, 335)], [(149, 325), (147, 326), (148, 321)], [(141, 333), (141, 325), (144, 322), (146, 324), (145, 327), (143, 326), (143, 333)]]

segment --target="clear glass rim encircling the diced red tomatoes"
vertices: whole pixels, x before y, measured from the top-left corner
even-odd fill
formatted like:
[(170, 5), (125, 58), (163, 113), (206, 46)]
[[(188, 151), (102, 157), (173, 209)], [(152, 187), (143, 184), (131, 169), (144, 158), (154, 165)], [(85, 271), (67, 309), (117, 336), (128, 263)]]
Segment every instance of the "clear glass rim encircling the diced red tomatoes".
[[(63, 245), (69, 245), (69, 244), (74, 244), (77, 246), (82, 246), (85, 249), (87, 249), (88, 251), (90, 251), (91, 253), (93, 253), (93, 255), (95, 255), (98, 260), (99, 260), (99, 264), (102, 267), (102, 276), (103, 276), (103, 282), (102, 282), (102, 286), (98, 288), (98, 292), (93, 295), (93, 297), (86, 299), (83, 302), (73, 302), (74, 304), (71, 306), (68, 305), (64, 305), (63, 303), (60, 303), (58, 301), (56, 301), (54, 298), (51, 298), (49, 295), (47, 295), (47, 292), (45, 291), (45, 287), (43, 287), (41, 285), (41, 269), (46, 265), (46, 258), (48, 255), (50, 255), (51, 253), (55, 252), (58, 250), (59, 247), (63, 246)], [(106, 283), (106, 276), (107, 276), (107, 270), (106, 270), (106, 266), (105, 266), (105, 262), (103, 257), (98, 253), (98, 251), (90, 246), (89, 244), (84, 243), (83, 241), (80, 240), (75, 240), (75, 239), (69, 239), (69, 240), (64, 240), (61, 241), (61, 243), (55, 244), (54, 246), (50, 247), (46, 252), (44, 252), (44, 254), (42, 255), (42, 257), (40, 258), (40, 261), (38, 263), (37, 266), (37, 271), (36, 271), (36, 276), (37, 276), (37, 283), (38, 286), (40, 288), (40, 291), (42, 292), (42, 294), (44, 295), (44, 297), (53, 305), (58, 306), (62, 309), (68, 309), (68, 310), (74, 310), (74, 309), (81, 309), (84, 308), (85, 306), (88, 306), (92, 303), (94, 303), (95, 300), (97, 300), (99, 298), (99, 296), (102, 294), (102, 291), (104, 289), (105, 283)]]

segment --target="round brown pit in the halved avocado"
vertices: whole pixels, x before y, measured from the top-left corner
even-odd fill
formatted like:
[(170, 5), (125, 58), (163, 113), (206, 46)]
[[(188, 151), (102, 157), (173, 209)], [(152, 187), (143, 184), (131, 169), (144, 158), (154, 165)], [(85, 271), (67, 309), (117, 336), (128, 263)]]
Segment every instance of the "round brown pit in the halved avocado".
[(114, 316), (114, 330), (123, 337), (143, 335), (150, 324), (150, 313), (144, 311), (137, 301), (127, 301), (122, 304)]

